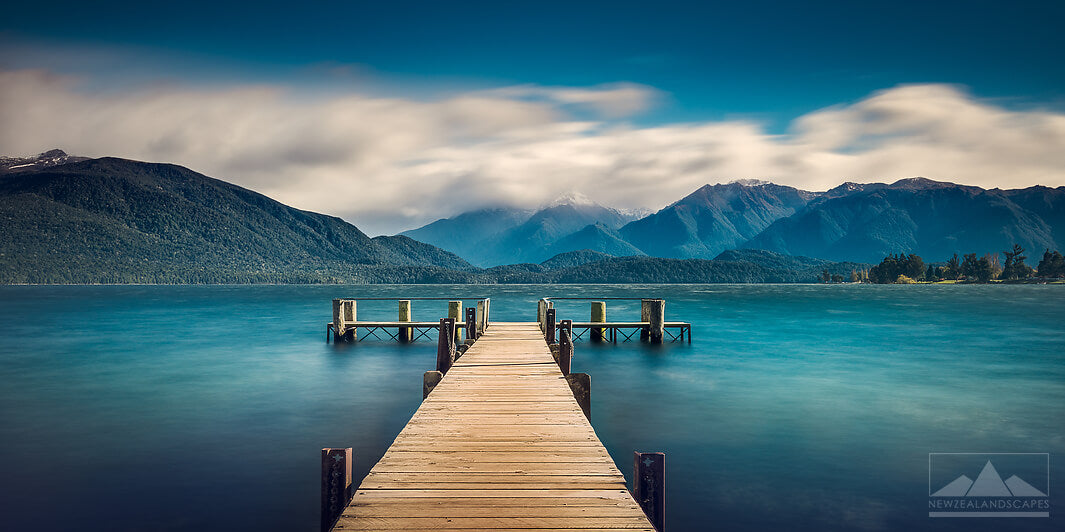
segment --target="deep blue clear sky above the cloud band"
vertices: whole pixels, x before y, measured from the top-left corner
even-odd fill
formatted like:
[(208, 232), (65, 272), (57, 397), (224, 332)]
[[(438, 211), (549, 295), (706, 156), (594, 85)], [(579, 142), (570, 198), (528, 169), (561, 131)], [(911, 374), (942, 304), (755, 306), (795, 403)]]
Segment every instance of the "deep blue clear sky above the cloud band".
[[(433, 84), (628, 81), (670, 96), (643, 120), (741, 114), (777, 126), (901, 83), (962, 84), (1013, 105), (1065, 103), (1065, 3), (1055, 1), (47, 6), (5, 7), (4, 40), (127, 49), (146, 63), (163, 55), (162, 65), (177, 68), (165, 73), (189, 81), (285, 79), (323, 65), (368, 69), (429, 93)], [(92, 66), (98, 74), (160, 73), (148, 64), (134, 65), (140, 72), (129, 63)]]

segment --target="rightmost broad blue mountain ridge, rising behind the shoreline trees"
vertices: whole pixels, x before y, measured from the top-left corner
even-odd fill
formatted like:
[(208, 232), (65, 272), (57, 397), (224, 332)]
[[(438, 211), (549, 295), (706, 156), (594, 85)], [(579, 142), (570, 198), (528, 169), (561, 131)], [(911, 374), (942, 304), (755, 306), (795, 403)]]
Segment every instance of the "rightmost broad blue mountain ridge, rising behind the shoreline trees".
[(890, 253), (1030, 253), (1065, 243), (1065, 187), (985, 190), (927, 179), (864, 185), (810, 202), (743, 244), (785, 254), (879, 262)]

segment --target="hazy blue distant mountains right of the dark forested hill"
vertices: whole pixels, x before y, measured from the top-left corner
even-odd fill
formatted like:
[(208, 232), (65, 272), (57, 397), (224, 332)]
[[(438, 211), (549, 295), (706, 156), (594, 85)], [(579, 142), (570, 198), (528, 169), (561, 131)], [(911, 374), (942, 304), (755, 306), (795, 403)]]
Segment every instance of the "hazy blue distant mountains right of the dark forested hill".
[[(988, 190), (912, 178), (891, 184), (843, 183), (817, 193), (734, 182), (705, 185), (620, 227), (617, 211), (602, 205), (553, 206), (476, 239), (470, 249), (461, 248), (472, 240), (461, 237), (461, 228), (487, 225), (485, 219), (465, 213), (403, 234), (479, 266), (539, 262), (585, 249), (665, 259), (715, 259), (742, 248), (861, 263), (876, 263), (892, 253), (946, 261), (954, 253), (997, 254), (1013, 244), (1030, 253), (1061, 249), (1065, 187)], [(461, 223), (452, 226), (458, 220)], [(588, 225), (574, 229), (585, 221)]]

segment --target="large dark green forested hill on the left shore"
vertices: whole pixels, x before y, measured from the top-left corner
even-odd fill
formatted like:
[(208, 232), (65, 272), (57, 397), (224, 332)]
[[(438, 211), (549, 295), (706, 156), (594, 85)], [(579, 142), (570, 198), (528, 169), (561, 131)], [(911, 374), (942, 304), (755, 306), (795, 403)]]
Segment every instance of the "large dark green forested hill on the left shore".
[(0, 282), (379, 282), (471, 266), (180, 166), (104, 157), (0, 174)]

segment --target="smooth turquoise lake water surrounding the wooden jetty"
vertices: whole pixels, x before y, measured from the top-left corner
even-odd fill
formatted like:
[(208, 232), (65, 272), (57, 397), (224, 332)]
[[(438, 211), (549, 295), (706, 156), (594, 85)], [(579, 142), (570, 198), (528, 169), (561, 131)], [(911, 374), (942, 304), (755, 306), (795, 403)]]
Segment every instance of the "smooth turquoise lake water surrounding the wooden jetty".
[[(320, 449), (361, 479), (436, 361), (326, 345), (331, 299), (485, 296), (496, 321), (659, 297), (692, 323), (573, 362), (626, 476), (667, 453), (671, 531), (1065, 529), (1065, 286), (1039, 285), (0, 286), (0, 528), (317, 530)], [(1049, 453), (1050, 518), (930, 518), (933, 452)]]

